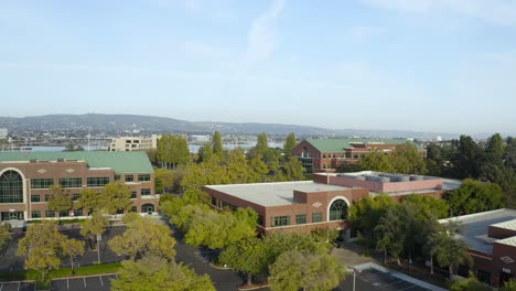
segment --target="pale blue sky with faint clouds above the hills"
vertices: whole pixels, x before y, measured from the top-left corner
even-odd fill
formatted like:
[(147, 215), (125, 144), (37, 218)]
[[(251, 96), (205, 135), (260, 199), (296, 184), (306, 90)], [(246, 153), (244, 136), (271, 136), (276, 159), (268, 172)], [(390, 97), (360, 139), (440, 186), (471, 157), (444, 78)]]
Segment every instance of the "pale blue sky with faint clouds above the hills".
[(516, 133), (515, 0), (0, 0), (0, 116)]

